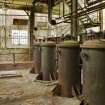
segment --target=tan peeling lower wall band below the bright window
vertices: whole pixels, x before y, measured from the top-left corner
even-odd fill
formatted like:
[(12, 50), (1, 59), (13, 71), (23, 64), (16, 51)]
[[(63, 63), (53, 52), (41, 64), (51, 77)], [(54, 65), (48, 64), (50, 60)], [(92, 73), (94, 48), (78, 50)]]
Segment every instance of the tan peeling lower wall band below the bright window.
[(29, 61), (28, 49), (0, 49), (0, 64), (25, 63)]

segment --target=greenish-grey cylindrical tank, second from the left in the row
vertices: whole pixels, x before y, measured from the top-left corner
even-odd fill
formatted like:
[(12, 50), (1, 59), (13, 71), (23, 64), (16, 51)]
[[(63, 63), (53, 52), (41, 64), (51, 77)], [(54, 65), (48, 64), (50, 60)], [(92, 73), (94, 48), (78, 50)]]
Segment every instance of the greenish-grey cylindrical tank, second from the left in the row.
[(43, 80), (49, 81), (56, 78), (56, 44), (54, 42), (41, 44), (41, 70)]

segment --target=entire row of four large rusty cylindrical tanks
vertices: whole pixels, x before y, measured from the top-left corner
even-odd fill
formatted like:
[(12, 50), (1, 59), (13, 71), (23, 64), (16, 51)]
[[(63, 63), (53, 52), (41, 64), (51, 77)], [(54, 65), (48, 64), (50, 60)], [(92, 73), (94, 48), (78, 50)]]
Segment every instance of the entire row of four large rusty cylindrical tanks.
[[(105, 105), (105, 41), (91, 40), (79, 45), (75, 41), (59, 44), (52, 42), (34, 45), (36, 73), (43, 80), (56, 78), (61, 85), (61, 95), (72, 97), (81, 90), (80, 56), (83, 61), (83, 100), (89, 105)], [(81, 51), (82, 50), (82, 51)]]

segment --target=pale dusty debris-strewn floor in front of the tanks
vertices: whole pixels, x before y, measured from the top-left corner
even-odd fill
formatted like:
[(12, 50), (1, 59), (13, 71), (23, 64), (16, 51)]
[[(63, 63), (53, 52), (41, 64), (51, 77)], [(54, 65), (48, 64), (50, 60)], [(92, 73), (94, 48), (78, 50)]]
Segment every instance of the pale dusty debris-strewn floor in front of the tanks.
[[(79, 105), (76, 98), (52, 96), (55, 84), (33, 82), (28, 70), (19, 71), (23, 77), (0, 79), (0, 105)], [(51, 85), (48, 85), (51, 84)]]

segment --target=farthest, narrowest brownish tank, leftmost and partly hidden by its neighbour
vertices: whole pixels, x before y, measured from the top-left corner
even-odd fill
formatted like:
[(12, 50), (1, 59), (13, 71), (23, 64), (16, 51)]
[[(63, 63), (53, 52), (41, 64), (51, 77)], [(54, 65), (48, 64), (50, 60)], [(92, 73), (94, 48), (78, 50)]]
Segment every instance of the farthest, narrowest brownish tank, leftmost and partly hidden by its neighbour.
[(40, 42), (36, 42), (33, 45), (33, 67), (35, 70), (35, 73), (40, 73), (41, 69), (41, 46)]

